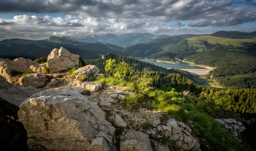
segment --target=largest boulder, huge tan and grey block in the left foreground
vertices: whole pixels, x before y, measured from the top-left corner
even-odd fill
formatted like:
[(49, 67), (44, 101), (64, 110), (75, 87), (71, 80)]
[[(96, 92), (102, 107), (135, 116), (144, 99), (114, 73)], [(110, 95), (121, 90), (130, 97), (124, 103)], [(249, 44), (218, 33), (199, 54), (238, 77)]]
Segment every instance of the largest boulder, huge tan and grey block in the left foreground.
[(20, 104), (18, 116), (28, 133), (29, 150), (89, 150), (100, 141), (101, 149), (108, 150), (113, 144), (116, 129), (106, 113), (70, 90), (36, 93)]

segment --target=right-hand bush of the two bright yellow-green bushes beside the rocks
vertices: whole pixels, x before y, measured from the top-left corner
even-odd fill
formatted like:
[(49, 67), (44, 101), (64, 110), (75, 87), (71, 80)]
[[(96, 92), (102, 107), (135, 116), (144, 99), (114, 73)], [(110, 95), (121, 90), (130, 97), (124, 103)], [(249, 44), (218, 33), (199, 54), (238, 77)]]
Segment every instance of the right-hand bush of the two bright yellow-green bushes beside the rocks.
[(132, 71), (131, 67), (128, 67), (128, 64), (125, 62), (120, 62), (116, 65), (114, 70), (114, 77), (116, 78), (124, 78), (128, 73)]

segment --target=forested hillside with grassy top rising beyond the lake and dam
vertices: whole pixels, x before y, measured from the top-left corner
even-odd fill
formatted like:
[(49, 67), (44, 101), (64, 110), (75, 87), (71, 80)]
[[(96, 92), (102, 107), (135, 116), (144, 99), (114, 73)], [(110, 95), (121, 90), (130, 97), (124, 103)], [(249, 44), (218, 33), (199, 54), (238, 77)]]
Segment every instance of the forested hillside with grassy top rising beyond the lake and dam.
[(256, 44), (253, 42), (255, 39), (197, 36), (164, 46), (161, 52), (148, 58), (215, 67), (210, 76), (222, 86), (255, 88)]

